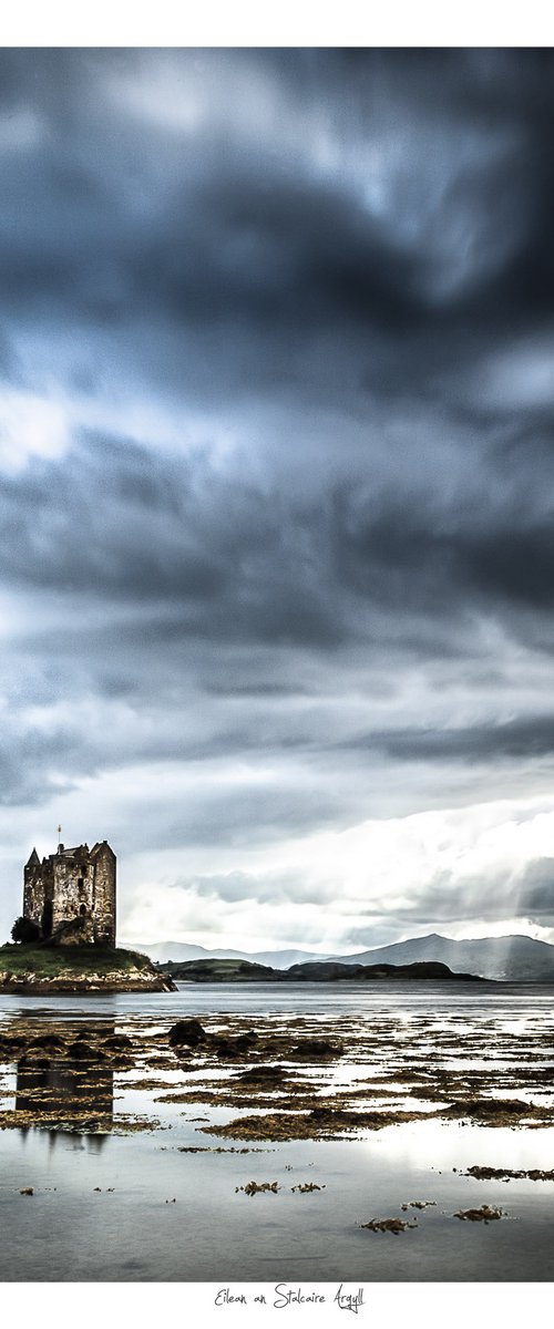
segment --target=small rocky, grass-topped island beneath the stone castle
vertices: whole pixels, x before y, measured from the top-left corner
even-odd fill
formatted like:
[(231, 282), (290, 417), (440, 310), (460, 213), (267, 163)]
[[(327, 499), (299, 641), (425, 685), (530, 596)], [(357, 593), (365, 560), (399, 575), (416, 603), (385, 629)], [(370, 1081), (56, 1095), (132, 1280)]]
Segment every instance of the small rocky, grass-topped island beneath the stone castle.
[(173, 991), (174, 983), (147, 956), (118, 946), (0, 946), (0, 993)]

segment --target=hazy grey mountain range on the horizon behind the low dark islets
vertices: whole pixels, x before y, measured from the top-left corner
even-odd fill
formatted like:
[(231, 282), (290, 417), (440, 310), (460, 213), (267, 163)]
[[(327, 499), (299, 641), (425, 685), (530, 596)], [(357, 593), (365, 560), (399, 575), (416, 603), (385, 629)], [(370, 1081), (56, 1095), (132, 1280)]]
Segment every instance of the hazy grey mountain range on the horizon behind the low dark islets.
[[(125, 945), (128, 945), (125, 942)], [(411, 937), (391, 946), (361, 950), (353, 956), (322, 956), (310, 950), (206, 950), (181, 941), (163, 941), (153, 946), (133, 948), (150, 960), (248, 960), (272, 969), (290, 969), (308, 961), (337, 961), (341, 965), (412, 965), (436, 960), (457, 973), (481, 974), (482, 978), (504, 978), (511, 982), (554, 982), (554, 946), (533, 937), (476, 937), (453, 941), (433, 932), (428, 937)]]

